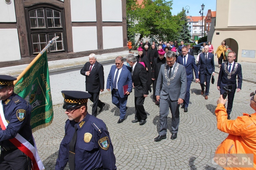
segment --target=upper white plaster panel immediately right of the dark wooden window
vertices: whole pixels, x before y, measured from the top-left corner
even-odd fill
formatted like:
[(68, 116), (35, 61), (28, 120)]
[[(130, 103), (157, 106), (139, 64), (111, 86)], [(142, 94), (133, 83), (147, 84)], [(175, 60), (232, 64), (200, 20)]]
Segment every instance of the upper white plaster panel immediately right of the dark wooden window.
[(71, 0), (72, 22), (96, 22), (95, 0)]

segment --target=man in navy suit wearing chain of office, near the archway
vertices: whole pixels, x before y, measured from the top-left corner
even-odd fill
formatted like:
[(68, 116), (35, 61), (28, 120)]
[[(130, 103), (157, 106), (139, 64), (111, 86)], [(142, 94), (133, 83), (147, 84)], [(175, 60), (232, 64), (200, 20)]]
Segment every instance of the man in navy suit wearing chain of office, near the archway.
[[(242, 67), (240, 64), (234, 62), (234, 59), (236, 59), (236, 53), (231, 51), (228, 53), (228, 62), (222, 63), (221, 68), (219, 70), (219, 77), (218, 77), (218, 83), (217, 88), (220, 90), (221, 95), (224, 94), (225, 90), (223, 87), (226, 85), (232, 85), (232, 90), (228, 94), (228, 106), (227, 106), (227, 114), (228, 119), (230, 119), (230, 113), (232, 111), (233, 106), (233, 100), (234, 100), (234, 94), (236, 92), (239, 92), (242, 87)], [(238, 78), (238, 86), (237, 86), (237, 80)]]

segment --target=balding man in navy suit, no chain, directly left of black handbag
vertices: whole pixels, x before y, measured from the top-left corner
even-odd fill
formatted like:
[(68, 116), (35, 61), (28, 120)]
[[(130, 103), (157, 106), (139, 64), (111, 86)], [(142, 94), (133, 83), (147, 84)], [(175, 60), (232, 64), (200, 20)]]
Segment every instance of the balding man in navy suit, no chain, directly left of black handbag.
[(209, 46), (204, 46), (204, 52), (199, 55), (198, 61), (198, 71), (200, 73), (200, 85), (201, 85), (201, 95), (204, 92), (204, 79), (206, 78), (206, 89), (204, 99), (208, 99), (211, 75), (215, 75), (214, 70), (214, 55), (208, 52)]

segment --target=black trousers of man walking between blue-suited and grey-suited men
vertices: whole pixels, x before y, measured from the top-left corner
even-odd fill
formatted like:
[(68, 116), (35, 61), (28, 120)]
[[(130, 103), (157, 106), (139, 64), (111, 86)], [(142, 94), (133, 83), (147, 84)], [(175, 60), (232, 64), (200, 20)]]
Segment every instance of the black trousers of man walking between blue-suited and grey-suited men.
[(145, 120), (147, 119), (147, 114), (144, 109), (144, 97), (134, 97), (134, 104), (135, 104), (135, 119), (138, 120)]

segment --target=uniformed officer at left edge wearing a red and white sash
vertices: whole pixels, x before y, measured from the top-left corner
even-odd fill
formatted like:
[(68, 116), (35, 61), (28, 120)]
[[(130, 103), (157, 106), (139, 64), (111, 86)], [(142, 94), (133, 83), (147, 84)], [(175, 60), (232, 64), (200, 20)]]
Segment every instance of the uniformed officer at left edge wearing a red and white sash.
[[(9, 140), (19, 133), (34, 145), (30, 126), (31, 107), (26, 100), (14, 93), (14, 80), (17, 79), (0, 75), (0, 169), (31, 170), (31, 159)], [(3, 122), (8, 123), (5, 130)]]

